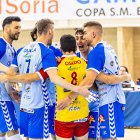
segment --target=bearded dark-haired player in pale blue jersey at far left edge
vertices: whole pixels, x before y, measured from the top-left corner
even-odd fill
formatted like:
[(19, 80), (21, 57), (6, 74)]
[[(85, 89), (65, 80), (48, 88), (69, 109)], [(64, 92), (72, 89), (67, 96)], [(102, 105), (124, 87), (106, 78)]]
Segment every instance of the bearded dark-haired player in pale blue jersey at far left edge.
[[(12, 42), (13, 40), (18, 40), (21, 29), (20, 21), (19, 17), (9, 16), (2, 23), (3, 34), (0, 38), (0, 62), (7, 67), (10, 67), (16, 55)], [(10, 93), (6, 90), (7, 86), (9, 87), (10, 85), (0, 83), (0, 140), (5, 140), (6, 133), (8, 140), (20, 140), (15, 108), (9, 96)]]

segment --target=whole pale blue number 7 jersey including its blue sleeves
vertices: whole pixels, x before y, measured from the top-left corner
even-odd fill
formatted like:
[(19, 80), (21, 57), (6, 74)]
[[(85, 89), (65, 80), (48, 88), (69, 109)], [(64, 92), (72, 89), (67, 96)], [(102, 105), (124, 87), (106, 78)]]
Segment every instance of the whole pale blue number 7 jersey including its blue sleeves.
[[(43, 43), (34, 42), (20, 49), (12, 66), (18, 67), (20, 74), (34, 73), (43, 68), (56, 69), (57, 63), (54, 53)], [(44, 106), (41, 81), (22, 85), (20, 108), (37, 109)]]

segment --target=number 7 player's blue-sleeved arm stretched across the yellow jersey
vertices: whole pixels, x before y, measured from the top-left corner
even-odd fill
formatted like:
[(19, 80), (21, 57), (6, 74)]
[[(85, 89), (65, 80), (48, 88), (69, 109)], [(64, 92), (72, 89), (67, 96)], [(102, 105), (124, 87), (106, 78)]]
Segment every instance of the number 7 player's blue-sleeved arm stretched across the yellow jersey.
[(82, 88), (79, 86), (74, 86), (70, 83), (68, 83), (66, 80), (58, 76), (57, 72), (57, 63), (56, 63), (56, 58), (54, 56), (54, 53), (51, 50), (47, 50), (46, 48), (41, 48), (42, 49), (42, 65), (44, 68), (44, 71), (47, 72), (49, 75), (50, 80), (54, 83), (57, 84), (63, 88), (72, 90), (77, 93), (89, 93), (88, 89)]

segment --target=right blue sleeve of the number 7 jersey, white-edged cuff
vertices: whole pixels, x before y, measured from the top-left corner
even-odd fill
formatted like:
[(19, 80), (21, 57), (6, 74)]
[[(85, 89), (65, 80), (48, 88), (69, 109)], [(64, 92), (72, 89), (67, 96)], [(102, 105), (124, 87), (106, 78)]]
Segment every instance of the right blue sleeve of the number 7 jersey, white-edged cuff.
[(52, 50), (44, 46), (41, 48), (41, 54), (44, 71), (47, 71), (49, 69), (57, 69), (56, 58)]

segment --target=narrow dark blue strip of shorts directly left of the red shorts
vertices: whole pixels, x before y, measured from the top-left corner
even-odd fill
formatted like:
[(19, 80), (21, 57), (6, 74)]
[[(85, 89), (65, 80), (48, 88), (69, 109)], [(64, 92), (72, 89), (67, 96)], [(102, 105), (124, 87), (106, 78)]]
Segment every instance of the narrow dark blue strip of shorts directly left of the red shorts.
[(55, 117), (55, 104), (53, 104), (53, 106), (48, 106), (49, 133), (51, 133), (52, 135), (55, 135), (54, 117)]

